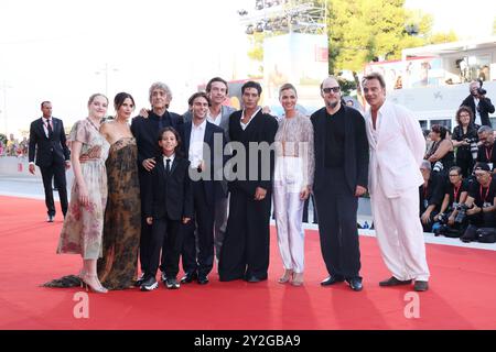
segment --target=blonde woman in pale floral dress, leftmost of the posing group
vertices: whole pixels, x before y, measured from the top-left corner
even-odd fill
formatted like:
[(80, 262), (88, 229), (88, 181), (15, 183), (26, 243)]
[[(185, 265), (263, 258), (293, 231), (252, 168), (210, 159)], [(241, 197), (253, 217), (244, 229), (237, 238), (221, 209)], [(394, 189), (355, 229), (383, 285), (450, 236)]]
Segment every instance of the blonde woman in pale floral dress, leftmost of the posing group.
[[(88, 101), (88, 117), (77, 121), (71, 131), (68, 141), (74, 183), (57, 249), (57, 253), (82, 255), (79, 279), (82, 285), (85, 284), (86, 288), (89, 286), (96, 293), (107, 293), (96, 271), (97, 260), (103, 253), (104, 213), (107, 204), (105, 161), (109, 144), (99, 132), (107, 108), (107, 97), (93, 95)], [(64, 282), (61, 286), (64, 286)]]

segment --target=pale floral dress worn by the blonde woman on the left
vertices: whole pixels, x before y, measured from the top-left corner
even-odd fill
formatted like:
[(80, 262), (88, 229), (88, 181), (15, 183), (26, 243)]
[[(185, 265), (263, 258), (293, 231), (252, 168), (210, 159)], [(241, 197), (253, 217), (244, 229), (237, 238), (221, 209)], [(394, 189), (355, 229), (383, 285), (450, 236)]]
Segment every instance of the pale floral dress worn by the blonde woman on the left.
[(79, 204), (79, 187), (76, 182), (71, 189), (71, 202), (58, 241), (57, 253), (80, 254), (85, 260), (101, 256), (104, 212), (107, 204), (107, 160), (109, 144), (89, 119), (76, 122), (69, 142), (83, 143), (80, 155), (89, 160), (80, 163), (89, 204)]

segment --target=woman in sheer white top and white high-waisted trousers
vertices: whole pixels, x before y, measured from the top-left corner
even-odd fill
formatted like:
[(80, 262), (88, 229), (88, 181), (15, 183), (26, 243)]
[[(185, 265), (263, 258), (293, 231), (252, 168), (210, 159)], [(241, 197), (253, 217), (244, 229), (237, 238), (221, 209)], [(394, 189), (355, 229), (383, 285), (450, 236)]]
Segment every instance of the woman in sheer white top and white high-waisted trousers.
[(309, 197), (314, 172), (313, 127), (296, 110), (296, 89), (285, 84), (279, 89), (284, 116), (276, 134), (273, 205), (278, 244), (284, 265), (279, 283), (303, 284), (304, 231), (303, 205)]

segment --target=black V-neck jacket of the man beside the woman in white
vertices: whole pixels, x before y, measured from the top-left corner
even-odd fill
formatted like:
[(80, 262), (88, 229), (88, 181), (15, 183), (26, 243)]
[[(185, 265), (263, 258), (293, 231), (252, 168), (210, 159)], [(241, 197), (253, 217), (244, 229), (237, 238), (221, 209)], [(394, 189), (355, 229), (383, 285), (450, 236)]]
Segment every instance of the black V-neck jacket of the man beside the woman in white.
[[(261, 187), (266, 190), (270, 190), (272, 187), (274, 153), (272, 148), (270, 152), (270, 164), (262, 166), (262, 153), (250, 148), (249, 143), (267, 142), (268, 145), (273, 146), (276, 132), (278, 131), (279, 124), (272, 116), (262, 113), (260, 110), (251, 119), (250, 123), (244, 131), (240, 124), (241, 113), (241, 110), (235, 111), (229, 118), (229, 139), (231, 142), (240, 142), (245, 147), (246, 160), (244, 160), (242, 162), (246, 169), (246, 175), (244, 175), (245, 179), (235, 179), (229, 182), (229, 189), (239, 189), (245, 191), (249, 196), (255, 196), (257, 187)], [(236, 157), (236, 151), (234, 157)], [(254, 158), (254, 161), (258, 161), (258, 173), (255, 179), (250, 179), (250, 158)], [(267, 166), (269, 167), (269, 169), (265, 169)], [(234, 167), (234, 172), (239, 173), (239, 167)], [(242, 175), (238, 174), (238, 176)]]

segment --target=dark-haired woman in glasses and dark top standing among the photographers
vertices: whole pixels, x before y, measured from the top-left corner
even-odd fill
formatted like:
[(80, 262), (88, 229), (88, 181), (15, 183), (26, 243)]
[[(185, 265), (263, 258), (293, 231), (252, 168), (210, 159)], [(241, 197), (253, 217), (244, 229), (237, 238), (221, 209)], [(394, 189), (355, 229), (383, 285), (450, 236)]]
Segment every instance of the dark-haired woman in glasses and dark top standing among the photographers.
[(463, 177), (472, 174), (475, 160), (477, 158), (478, 124), (474, 123), (474, 114), (471, 108), (462, 106), (456, 111), (457, 127), (453, 130), (452, 142), (456, 147), (455, 164), (462, 169)]

